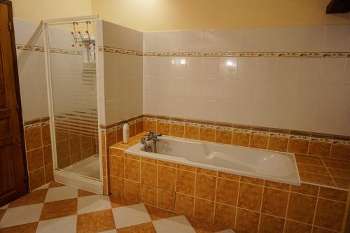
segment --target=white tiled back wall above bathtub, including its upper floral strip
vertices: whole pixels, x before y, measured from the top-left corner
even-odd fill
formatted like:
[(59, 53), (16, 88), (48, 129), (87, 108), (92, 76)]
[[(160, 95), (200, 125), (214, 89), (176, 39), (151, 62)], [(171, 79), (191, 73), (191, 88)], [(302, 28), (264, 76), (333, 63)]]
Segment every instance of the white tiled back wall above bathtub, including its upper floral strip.
[(146, 32), (144, 113), (349, 136), (349, 38), (349, 25)]

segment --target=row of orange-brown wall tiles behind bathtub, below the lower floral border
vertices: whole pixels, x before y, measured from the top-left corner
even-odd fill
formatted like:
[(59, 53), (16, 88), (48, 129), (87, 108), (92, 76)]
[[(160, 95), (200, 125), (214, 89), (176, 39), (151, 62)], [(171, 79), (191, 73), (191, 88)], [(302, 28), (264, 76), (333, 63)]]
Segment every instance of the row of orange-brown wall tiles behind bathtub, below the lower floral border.
[[(168, 118), (170, 119), (170, 118)], [(274, 150), (279, 152), (298, 153), (300, 155), (311, 155), (319, 157), (330, 157), (338, 160), (350, 161), (350, 145), (341, 145), (337, 143), (327, 143), (311, 140), (296, 139), (293, 137), (274, 136), (276, 134), (269, 134), (272, 129), (258, 128), (251, 126), (237, 126), (242, 129), (255, 129), (262, 132), (267, 131), (268, 135), (260, 135), (257, 133), (246, 133), (241, 131), (230, 131), (220, 129), (220, 123), (211, 122), (212, 128), (207, 126), (199, 126), (201, 122), (196, 122), (197, 126), (193, 126), (191, 121), (179, 120), (180, 124), (170, 120), (170, 124), (164, 122), (158, 122), (155, 120), (144, 120), (144, 131), (156, 131), (161, 134), (178, 136), (186, 139), (196, 139), (202, 141), (210, 141), (216, 143), (225, 143), (235, 146), (246, 146), (251, 148), (259, 148), (265, 150)], [(206, 122), (207, 124), (207, 122)], [(232, 124), (226, 124), (225, 126), (232, 127)], [(290, 133), (289, 130), (278, 129), (283, 133)], [(300, 132), (302, 134), (304, 132)], [(311, 136), (311, 133), (306, 133)], [(319, 136), (319, 135), (318, 135)], [(328, 138), (328, 135), (325, 136)], [(347, 139), (348, 141), (350, 139)]]

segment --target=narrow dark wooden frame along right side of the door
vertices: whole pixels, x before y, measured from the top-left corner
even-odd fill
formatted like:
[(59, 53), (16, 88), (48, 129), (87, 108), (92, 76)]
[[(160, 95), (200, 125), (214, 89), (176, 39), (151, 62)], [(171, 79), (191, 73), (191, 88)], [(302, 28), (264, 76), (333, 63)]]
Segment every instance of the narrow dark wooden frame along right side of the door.
[(25, 129), (23, 125), (23, 114), (22, 114), (22, 102), (20, 97), (20, 78), (18, 75), (18, 63), (17, 63), (17, 50), (15, 42), (15, 29), (13, 25), (13, 8), (12, 2), (10, 0), (0, 0), (1, 4), (5, 4), (8, 7), (8, 22), (10, 22), (10, 38), (11, 38), (11, 50), (12, 50), (12, 62), (13, 62), (13, 75), (15, 79), (15, 90), (17, 99), (17, 109), (18, 109), (18, 124), (20, 125), (20, 143), (22, 147), (22, 160), (23, 167), (25, 171), (25, 190), (29, 192), (29, 174), (27, 167), (27, 153), (25, 149)]

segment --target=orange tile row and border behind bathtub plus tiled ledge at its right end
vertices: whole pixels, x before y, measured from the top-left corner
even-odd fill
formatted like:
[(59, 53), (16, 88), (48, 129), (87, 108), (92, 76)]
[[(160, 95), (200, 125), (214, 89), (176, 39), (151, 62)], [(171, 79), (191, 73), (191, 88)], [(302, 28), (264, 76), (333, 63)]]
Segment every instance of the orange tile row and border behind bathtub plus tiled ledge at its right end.
[(151, 130), (186, 139), (295, 153), (302, 163), (299, 169), (304, 181), (346, 189), (350, 185), (350, 141), (346, 137), (145, 115), (144, 131)]

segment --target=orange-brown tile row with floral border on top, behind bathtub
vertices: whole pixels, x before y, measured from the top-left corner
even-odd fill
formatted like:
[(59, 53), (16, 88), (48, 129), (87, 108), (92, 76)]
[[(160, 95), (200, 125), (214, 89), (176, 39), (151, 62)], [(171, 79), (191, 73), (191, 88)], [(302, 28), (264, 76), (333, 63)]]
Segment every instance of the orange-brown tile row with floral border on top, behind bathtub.
[[(144, 115), (144, 131), (253, 148), (350, 160), (347, 136)], [(333, 150), (332, 150), (333, 149)]]

